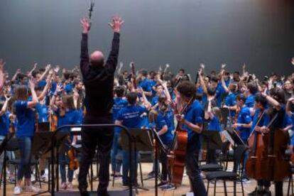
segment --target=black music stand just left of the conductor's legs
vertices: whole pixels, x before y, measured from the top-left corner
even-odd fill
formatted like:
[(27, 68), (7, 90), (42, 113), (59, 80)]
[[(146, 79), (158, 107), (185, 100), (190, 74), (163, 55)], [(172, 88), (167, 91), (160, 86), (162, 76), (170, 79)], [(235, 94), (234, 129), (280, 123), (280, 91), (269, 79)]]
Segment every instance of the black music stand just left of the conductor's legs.
[[(50, 193), (50, 180), (55, 180), (50, 176), (50, 164), (54, 164), (52, 157), (51, 157), (51, 149), (55, 148), (54, 144), (52, 143), (52, 138), (54, 136), (54, 132), (51, 131), (38, 131), (35, 132), (33, 137), (33, 143), (32, 143), (32, 155), (34, 155), (36, 158), (42, 156), (43, 158), (47, 158), (48, 161), (48, 190), (44, 192), (38, 192), (36, 195), (43, 195), (45, 193)], [(63, 132), (59, 132), (56, 134), (56, 138), (58, 143), (64, 143), (65, 138), (67, 138), (67, 134)], [(59, 146), (60, 147), (60, 146)], [(61, 146), (62, 147), (62, 146)], [(55, 154), (58, 155), (58, 152), (62, 151), (62, 148), (58, 148), (57, 151), (55, 151)], [(58, 159), (57, 159), (58, 160)], [(58, 163), (57, 163), (58, 164)], [(57, 166), (58, 168), (58, 166)], [(58, 181), (58, 178), (57, 178)], [(33, 196), (36, 196), (33, 195)]]

